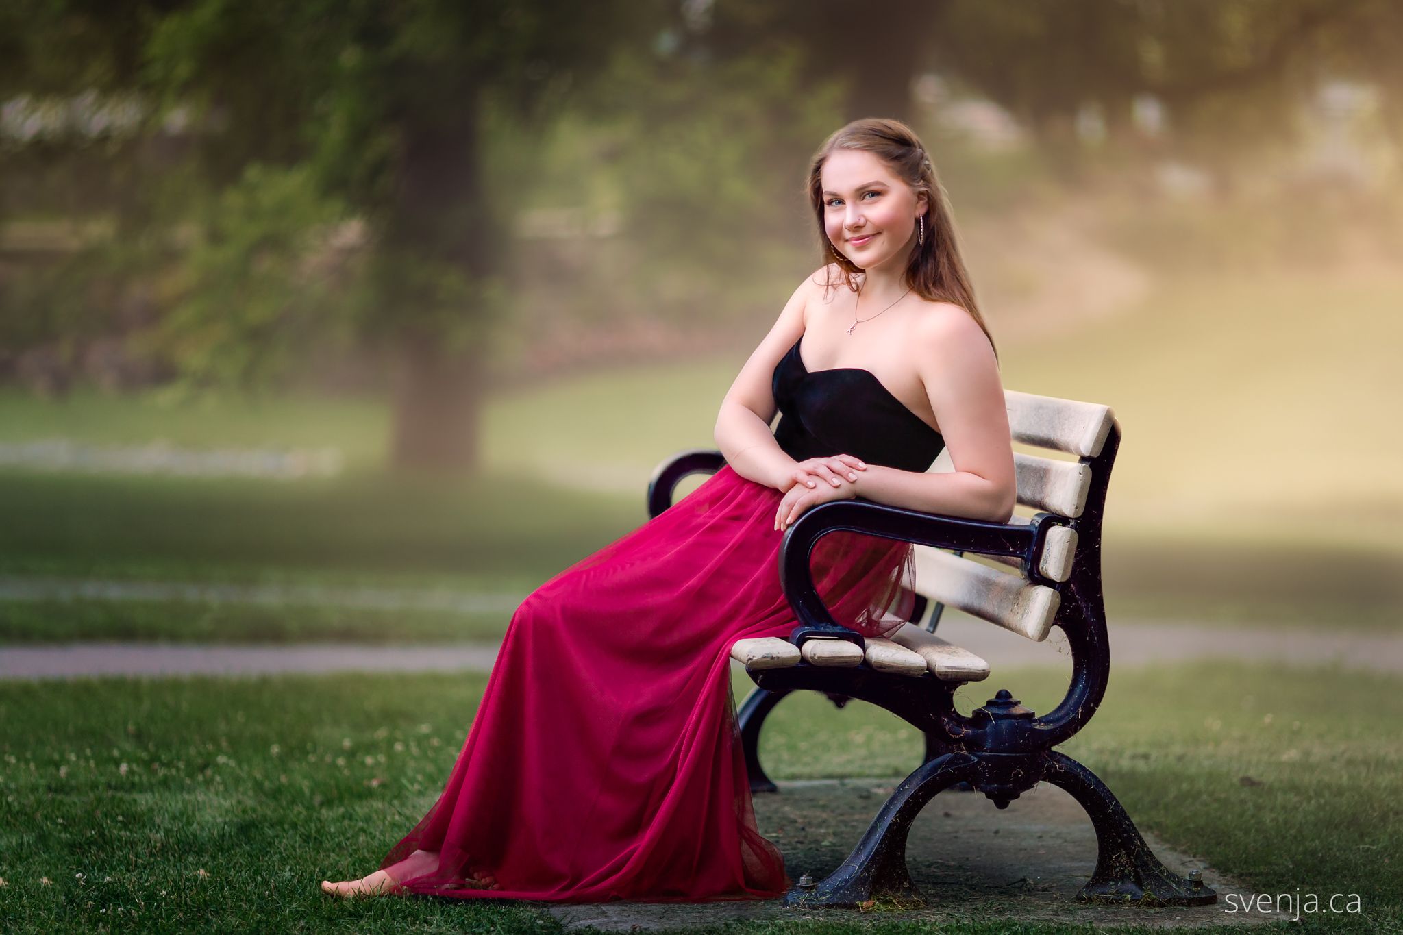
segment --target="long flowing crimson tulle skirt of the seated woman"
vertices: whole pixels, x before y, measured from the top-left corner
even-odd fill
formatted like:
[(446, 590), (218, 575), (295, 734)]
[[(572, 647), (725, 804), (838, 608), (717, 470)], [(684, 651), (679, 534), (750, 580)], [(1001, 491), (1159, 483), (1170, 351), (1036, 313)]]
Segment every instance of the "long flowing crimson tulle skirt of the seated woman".
[[(788, 889), (755, 826), (730, 681), (737, 639), (797, 624), (780, 499), (723, 467), (522, 601), (448, 785), (380, 864), (403, 890), (596, 903)], [(812, 566), (859, 632), (909, 610), (906, 544), (833, 533)], [(469, 882), (484, 875), (499, 889)]]

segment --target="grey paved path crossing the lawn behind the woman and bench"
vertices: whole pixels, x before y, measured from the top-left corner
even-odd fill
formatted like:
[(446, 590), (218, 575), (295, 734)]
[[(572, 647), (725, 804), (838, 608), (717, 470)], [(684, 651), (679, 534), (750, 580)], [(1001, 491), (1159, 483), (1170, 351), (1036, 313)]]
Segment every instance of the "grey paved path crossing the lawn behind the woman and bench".
[[(946, 639), (988, 659), (993, 669), (1070, 666), (1061, 631), (1044, 643), (951, 615), (940, 624)], [(365, 646), (65, 643), (0, 646), (0, 678), (62, 678), (73, 676), (253, 676), (327, 671), (488, 671), (497, 648), (484, 643)], [(1117, 666), (1190, 659), (1284, 662), (1296, 666), (1338, 664), (1403, 673), (1403, 634), (1319, 632), (1301, 628), (1225, 629), (1198, 624), (1132, 624), (1111, 632)]]

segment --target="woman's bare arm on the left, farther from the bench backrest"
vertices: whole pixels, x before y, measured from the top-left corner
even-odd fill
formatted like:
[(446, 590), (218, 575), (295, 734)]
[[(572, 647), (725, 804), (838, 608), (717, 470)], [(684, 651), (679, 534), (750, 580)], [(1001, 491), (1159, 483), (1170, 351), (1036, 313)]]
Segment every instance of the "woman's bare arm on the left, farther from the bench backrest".
[(774, 327), (751, 353), (721, 400), (713, 433), (731, 470), (748, 481), (787, 491), (794, 485), (797, 461), (787, 456), (770, 432), (777, 405), (770, 381), (780, 357), (804, 334), (805, 279), (780, 311)]

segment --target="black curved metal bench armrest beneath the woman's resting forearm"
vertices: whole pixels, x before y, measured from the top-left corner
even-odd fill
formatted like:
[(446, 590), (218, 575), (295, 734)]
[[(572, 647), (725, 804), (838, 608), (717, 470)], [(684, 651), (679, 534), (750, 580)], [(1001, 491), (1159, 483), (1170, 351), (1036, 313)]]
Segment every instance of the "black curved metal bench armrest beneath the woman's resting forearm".
[(1024, 559), (1030, 579), (1056, 586), (1042, 582), (1035, 569), (1048, 530), (1059, 524), (1059, 517), (1051, 513), (1038, 513), (1027, 524), (1005, 524), (920, 513), (863, 498), (819, 503), (794, 520), (780, 542), (780, 587), (800, 621), (790, 632), (790, 642), (803, 646), (817, 636), (863, 645), (860, 634), (833, 620), (814, 585), (810, 565), (814, 547), (829, 533), (846, 530), (960, 552), (1017, 557)]

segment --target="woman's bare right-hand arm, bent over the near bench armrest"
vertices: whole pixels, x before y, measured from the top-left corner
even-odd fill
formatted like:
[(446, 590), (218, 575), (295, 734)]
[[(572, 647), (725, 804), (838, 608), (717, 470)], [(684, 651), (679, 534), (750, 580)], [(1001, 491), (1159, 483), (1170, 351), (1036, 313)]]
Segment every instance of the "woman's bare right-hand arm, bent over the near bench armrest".
[(929, 474), (868, 464), (856, 495), (922, 513), (1006, 523), (1017, 502), (1009, 412), (993, 348), (962, 308), (941, 306), (915, 335), (918, 373), (954, 471)]

